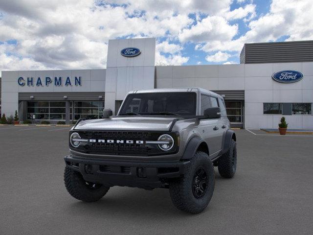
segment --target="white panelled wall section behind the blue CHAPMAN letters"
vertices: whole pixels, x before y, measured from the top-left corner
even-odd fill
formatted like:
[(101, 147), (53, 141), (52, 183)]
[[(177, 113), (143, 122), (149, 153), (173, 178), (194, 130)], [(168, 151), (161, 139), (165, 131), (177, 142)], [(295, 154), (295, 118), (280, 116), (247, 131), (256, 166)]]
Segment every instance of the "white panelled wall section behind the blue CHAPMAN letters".
[[(81, 86), (75, 86), (75, 76), (81, 77)], [(33, 77), (33, 86), (18, 85), (18, 78)], [(38, 77), (42, 78), (43, 86), (36, 86)], [(45, 86), (45, 77), (50, 77), (52, 83)], [(62, 77), (62, 85), (54, 86), (54, 77)], [(67, 77), (71, 86), (65, 86)], [(14, 116), (19, 110), (19, 93), (30, 92), (36, 95), (41, 92), (103, 92), (105, 90), (106, 70), (47, 70), (47, 71), (2, 71), (1, 81), (1, 114)], [(27, 80), (26, 80), (27, 83)]]

